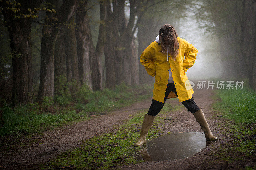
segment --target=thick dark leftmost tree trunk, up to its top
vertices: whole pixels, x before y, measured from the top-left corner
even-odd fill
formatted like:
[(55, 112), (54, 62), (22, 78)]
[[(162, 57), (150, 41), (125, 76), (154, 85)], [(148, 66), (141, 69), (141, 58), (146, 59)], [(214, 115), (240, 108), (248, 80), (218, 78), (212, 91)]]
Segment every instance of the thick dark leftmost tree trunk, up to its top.
[[(31, 51), (31, 17), (19, 16), (20, 11), (23, 14), (30, 14), (28, 8), (36, 8), (41, 4), (40, 1), (26, 1), (17, 0), (16, 3), (20, 3), (21, 7), (18, 13), (14, 13), (9, 10), (9, 7), (14, 7), (7, 4), (6, 1), (1, 2), (0, 7), (4, 16), (4, 26), (8, 28), (10, 37), (10, 48), (12, 52), (12, 66), (13, 66), (13, 79), (12, 79), (12, 105), (26, 104), (32, 102), (32, 51)], [(15, 7), (14, 7), (15, 8)]]

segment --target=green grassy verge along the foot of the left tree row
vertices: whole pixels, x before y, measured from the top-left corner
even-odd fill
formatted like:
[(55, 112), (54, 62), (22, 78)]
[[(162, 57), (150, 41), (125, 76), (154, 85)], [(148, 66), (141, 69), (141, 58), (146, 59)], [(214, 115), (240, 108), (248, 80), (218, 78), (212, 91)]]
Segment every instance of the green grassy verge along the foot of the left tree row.
[(12, 108), (2, 100), (0, 136), (13, 135), (18, 138), (52, 126), (88, 119), (90, 114), (97, 115), (149, 98), (153, 87), (122, 84), (114, 89), (93, 92), (85, 85), (73, 91), (63, 85), (59, 89), (53, 99), (45, 97), (41, 104), (30, 103)]

